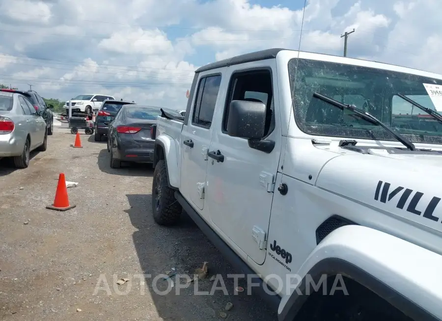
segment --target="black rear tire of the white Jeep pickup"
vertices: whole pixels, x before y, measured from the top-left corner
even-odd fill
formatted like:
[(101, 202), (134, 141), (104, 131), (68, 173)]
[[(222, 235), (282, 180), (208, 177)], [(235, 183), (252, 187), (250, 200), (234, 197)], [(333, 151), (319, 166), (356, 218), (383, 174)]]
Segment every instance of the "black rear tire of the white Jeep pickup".
[(174, 193), (167, 182), (166, 161), (159, 160), (152, 180), (152, 214), (160, 225), (173, 225), (181, 216), (182, 207)]

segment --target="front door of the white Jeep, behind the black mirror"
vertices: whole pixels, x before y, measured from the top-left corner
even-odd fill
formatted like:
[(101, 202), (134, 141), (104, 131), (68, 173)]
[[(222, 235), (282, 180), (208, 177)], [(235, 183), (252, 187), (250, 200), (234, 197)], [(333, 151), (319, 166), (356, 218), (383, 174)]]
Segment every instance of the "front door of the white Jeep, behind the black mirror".
[[(254, 262), (263, 264), (276, 172), (281, 151), (278, 122), (276, 59), (250, 62), (227, 69), (227, 98), (218, 110), (209, 148), (206, 200), (212, 221)], [(227, 81), (227, 80), (226, 80)], [(268, 108), (266, 139), (275, 141), (268, 153), (249, 146), (247, 139), (227, 133), (232, 100), (261, 101)], [(217, 155), (223, 160), (217, 160)]]

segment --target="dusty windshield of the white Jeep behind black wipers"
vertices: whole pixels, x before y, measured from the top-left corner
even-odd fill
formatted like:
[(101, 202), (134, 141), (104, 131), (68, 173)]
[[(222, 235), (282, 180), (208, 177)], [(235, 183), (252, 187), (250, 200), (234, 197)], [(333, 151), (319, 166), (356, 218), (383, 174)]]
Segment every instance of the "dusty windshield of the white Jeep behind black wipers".
[(368, 112), (411, 142), (442, 144), (442, 122), (401, 97), (435, 111), (423, 84), (442, 85), (441, 79), (309, 59), (292, 59), (288, 67), (295, 121), (304, 133), (392, 140), (381, 126), (354, 117), (354, 111), (315, 99), (318, 92)]

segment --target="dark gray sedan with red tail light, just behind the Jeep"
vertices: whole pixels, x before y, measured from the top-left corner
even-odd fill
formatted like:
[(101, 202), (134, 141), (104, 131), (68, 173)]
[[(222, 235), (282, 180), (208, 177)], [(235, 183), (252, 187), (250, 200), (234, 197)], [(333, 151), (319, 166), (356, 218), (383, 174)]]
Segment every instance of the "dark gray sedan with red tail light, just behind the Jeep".
[(155, 139), (152, 125), (161, 115), (160, 107), (124, 105), (109, 124), (108, 151), (111, 168), (121, 166), (121, 161), (150, 163), (153, 160)]

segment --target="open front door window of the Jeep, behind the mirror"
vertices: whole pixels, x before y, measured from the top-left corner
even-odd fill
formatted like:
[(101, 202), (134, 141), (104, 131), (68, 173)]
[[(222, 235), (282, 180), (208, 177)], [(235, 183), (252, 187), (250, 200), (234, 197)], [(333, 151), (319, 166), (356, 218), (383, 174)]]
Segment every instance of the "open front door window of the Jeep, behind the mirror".
[(222, 119), (222, 132), (227, 133), (229, 107), (232, 100), (262, 102), (266, 105), (264, 136), (275, 129), (275, 107), (273, 104), (272, 74), (268, 70), (233, 74), (229, 84), (228, 100)]

